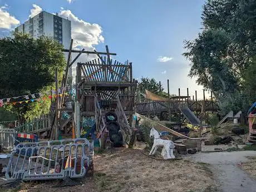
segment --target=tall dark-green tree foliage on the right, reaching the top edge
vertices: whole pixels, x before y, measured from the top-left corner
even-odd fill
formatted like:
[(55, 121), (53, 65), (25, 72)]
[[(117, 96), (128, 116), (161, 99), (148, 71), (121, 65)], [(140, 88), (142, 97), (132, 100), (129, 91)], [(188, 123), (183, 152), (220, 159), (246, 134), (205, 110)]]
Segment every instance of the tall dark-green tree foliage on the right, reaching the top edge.
[(229, 109), (246, 110), (255, 99), (255, 92), (247, 91), (255, 88), (256, 1), (207, 0), (202, 19), (203, 32), (185, 41), (189, 76), (213, 91), (223, 114)]

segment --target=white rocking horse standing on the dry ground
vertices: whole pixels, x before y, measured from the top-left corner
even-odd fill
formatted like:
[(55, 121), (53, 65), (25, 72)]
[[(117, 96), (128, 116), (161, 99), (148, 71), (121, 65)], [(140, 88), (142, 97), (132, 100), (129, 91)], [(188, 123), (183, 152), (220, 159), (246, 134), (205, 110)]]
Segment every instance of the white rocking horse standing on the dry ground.
[(154, 144), (149, 155), (154, 155), (157, 148), (159, 146), (163, 146), (161, 155), (164, 157), (164, 159), (175, 159), (175, 156), (173, 154), (173, 149), (175, 147), (173, 141), (160, 139), (159, 132), (154, 127), (152, 127), (152, 129), (150, 130), (149, 136), (154, 137)]

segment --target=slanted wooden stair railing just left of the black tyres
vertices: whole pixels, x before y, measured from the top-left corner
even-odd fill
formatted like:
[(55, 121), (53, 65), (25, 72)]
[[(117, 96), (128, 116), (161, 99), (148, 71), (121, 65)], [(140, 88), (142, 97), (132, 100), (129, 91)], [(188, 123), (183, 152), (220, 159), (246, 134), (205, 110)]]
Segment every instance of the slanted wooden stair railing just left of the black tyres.
[(97, 100), (97, 97), (94, 98), (94, 104), (95, 104), (96, 132), (97, 132), (97, 138), (99, 138), (102, 132), (105, 130), (106, 124), (105, 124), (104, 116), (102, 115), (101, 107), (100, 107), (99, 101)]

